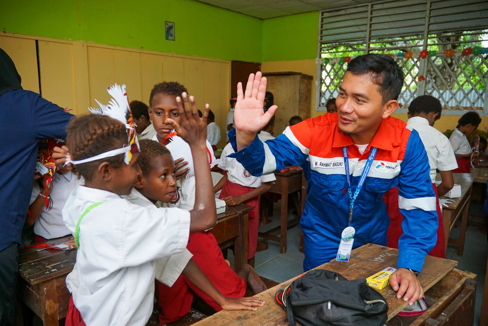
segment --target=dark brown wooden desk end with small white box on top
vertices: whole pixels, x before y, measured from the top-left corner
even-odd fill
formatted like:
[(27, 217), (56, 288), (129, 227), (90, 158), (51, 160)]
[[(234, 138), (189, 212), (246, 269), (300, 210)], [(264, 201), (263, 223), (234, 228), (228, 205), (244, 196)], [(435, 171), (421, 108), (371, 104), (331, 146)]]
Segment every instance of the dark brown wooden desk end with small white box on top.
[(247, 264), (248, 212), (251, 206), (225, 206), (225, 213), (217, 215), (217, 225), (210, 230), (221, 249), (234, 245), (234, 270)]

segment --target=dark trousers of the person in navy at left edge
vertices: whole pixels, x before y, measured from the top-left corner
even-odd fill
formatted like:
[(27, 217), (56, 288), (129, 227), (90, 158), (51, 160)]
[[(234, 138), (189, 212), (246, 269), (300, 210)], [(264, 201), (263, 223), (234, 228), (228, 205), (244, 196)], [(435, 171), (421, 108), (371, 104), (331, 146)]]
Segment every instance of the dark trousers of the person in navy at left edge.
[(0, 325), (15, 324), (19, 249), (12, 244), (0, 251)]

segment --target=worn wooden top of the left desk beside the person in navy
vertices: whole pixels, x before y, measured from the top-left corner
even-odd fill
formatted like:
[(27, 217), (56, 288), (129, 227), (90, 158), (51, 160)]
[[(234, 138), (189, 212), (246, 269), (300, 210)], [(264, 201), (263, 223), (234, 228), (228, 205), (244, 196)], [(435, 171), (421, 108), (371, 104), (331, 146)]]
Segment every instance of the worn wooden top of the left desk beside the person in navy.
[[(73, 236), (46, 241), (46, 244), (60, 244)], [(27, 283), (34, 285), (55, 277), (68, 274), (76, 262), (77, 249), (42, 250), (39, 247), (19, 249), (19, 274)]]

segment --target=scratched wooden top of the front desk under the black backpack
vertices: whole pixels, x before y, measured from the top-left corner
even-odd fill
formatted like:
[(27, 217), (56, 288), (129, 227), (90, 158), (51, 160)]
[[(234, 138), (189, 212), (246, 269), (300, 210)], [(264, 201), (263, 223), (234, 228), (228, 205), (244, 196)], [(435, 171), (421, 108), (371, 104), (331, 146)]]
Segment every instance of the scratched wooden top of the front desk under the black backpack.
[[(398, 249), (388, 248), (381, 245), (363, 245), (352, 251), (349, 262), (337, 262), (335, 260), (319, 269), (328, 269), (340, 273), (346, 279), (360, 279), (371, 276), (383, 268), (396, 267)], [(455, 266), (457, 262), (442, 258), (427, 256), (419, 280), (424, 290), (439, 282)], [(298, 275), (297, 275), (298, 276)], [(274, 301), (274, 295), (279, 289), (284, 289), (296, 277), (282, 284), (276, 285), (260, 294), (257, 297), (263, 299), (266, 304), (259, 307), (257, 311), (219, 311), (218, 313), (205, 318), (194, 325), (196, 326), (236, 326), (236, 325), (288, 325), (285, 311)], [(388, 320), (402, 310), (407, 303), (396, 298), (396, 292), (390, 285), (379, 292), (385, 297), (388, 303)]]

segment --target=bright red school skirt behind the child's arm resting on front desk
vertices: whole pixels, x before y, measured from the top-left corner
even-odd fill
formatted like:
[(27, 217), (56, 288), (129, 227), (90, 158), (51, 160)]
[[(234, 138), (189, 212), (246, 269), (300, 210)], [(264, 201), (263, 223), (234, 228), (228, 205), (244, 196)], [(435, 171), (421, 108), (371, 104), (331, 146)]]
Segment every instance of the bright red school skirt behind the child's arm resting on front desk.
[[(193, 261), (202, 269), (208, 280), (226, 297), (240, 298), (245, 294), (246, 285), (224, 260), (222, 250), (212, 233), (190, 233), (186, 248), (193, 254)], [(214, 310), (222, 307), (191, 283), (183, 275), (169, 287), (156, 281), (156, 298), (161, 307), (159, 324), (166, 325), (183, 318), (191, 308), (193, 294), (198, 295)]]

